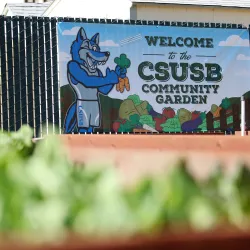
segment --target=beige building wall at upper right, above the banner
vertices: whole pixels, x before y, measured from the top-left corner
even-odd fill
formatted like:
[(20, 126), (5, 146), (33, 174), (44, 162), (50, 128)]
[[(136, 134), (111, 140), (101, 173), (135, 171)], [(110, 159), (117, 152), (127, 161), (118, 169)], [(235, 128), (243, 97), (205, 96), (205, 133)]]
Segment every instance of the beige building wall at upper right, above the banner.
[(250, 9), (173, 5), (138, 5), (137, 19), (250, 24)]

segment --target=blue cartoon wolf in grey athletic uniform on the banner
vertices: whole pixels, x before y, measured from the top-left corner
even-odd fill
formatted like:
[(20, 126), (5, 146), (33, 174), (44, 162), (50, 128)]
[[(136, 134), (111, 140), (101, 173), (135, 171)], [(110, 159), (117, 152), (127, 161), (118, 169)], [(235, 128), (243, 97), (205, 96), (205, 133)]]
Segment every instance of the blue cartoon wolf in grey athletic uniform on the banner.
[(126, 75), (126, 69), (116, 66), (115, 71), (106, 69), (103, 76), (99, 65), (104, 65), (110, 56), (99, 47), (99, 33), (88, 39), (80, 28), (76, 40), (71, 45), (72, 60), (67, 65), (68, 81), (76, 96), (69, 107), (64, 121), (64, 133), (90, 133), (100, 127), (101, 111), (99, 94), (108, 95), (119, 77)]

